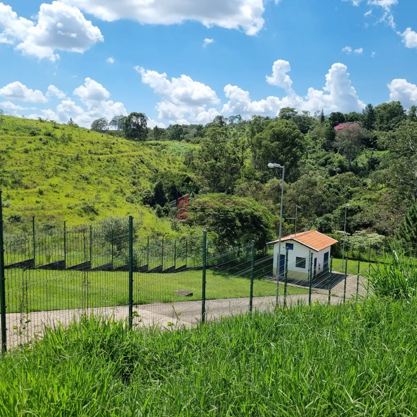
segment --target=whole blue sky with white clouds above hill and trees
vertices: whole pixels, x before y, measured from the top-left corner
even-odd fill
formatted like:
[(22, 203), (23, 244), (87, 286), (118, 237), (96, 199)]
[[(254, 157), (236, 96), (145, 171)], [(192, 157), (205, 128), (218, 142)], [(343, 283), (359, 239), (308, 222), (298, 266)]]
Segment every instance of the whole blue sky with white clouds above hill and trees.
[(168, 126), (283, 106), (408, 108), (416, 16), (411, 0), (10, 0), (0, 107), (82, 126), (131, 111)]

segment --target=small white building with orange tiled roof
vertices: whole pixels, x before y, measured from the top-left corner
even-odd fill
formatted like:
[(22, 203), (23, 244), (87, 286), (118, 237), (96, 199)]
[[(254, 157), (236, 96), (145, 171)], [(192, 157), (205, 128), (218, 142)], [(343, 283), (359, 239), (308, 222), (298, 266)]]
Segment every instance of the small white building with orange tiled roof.
[(337, 243), (325, 234), (310, 230), (285, 236), (281, 239), (281, 256), (278, 262), (279, 240), (269, 242), (274, 245), (273, 274), (284, 276), (285, 254), (288, 248), (288, 278), (306, 281), (309, 279), (310, 257), (313, 281), (329, 271), (330, 248)]

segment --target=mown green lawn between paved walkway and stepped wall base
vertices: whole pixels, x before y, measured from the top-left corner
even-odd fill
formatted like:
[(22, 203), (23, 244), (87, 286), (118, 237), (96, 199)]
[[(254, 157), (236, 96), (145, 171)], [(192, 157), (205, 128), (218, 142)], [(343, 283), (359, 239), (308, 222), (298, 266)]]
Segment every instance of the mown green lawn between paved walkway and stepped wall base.
[[(135, 304), (192, 301), (201, 299), (201, 270), (175, 274), (133, 274)], [(174, 291), (186, 290), (191, 297)], [(206, 275), (206, 298), (249, 297), (250, 280), (209, 269)], [(306, 294), (308, 290), (288, 286), (288, 294)], [(280, 285), (280, 294), (284, 286)], [(255, 280), (254, 296), (273, 296), (276, 284)], [(6, 269), (8, 312), (48, 311), (128, 304), (128, 273), (108, 271), (46, 271)]]

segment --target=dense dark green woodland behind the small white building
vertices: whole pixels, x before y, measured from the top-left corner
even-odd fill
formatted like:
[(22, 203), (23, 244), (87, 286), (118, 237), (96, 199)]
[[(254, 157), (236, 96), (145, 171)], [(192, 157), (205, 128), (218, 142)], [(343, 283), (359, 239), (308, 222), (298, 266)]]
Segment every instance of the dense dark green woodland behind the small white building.
[[(311, 115), (282, 108), (272, 118), (216, 116), (206, 126), (176, 124), (166, 129), (150, 129), (143, 113), (131, 113), (113, 118), (107, 127), (107, 121), (99, 119), (91, 128), (103, 131), (111, 126), (135, 141), (197, 145), (184, 156), (188, 174), (157, 175), (152, 179), (155, 186), (142, 192), (143, 203), (159, 216), (168, 216), (169, 201), (191, 192), (252, 198), (276, 219), (280, 170), (267, 167), (274, 162), (286, 167), (284, 233), (294, 232), (296, 213), (299, 231), (311, 227), (324, 233), (340, 231), (349, 203), (349, 233), (367, 231), (404, 240), (416, 219), (413, 214), (400, 230), (404, 215), (417, 201), (416, 113), (416, 106), (406, 112), (398, 101), (368, 104), (362, 113), (328, 116), (323, 111)], [(272, 236), (276, 221), (269, 215), (264, 218), (262, 223), (254, 216), (254, 223)], [(211, 226), (224, 229), (224, 224)]]

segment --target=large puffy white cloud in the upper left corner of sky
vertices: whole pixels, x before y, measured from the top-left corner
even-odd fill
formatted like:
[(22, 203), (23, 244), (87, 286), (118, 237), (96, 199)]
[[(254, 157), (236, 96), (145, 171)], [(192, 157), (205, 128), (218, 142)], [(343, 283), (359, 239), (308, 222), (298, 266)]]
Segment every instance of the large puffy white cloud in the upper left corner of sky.
[(19, 17), (12, 8), (0, 3), (0, 43), (16, 45), (24, 55), (59, 58), (56, 50), (83, 53), (104, 40), (100, 29), (86, 20), (76, 7), (53, 1), (40, 5), (37, 22)]

